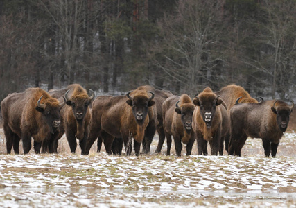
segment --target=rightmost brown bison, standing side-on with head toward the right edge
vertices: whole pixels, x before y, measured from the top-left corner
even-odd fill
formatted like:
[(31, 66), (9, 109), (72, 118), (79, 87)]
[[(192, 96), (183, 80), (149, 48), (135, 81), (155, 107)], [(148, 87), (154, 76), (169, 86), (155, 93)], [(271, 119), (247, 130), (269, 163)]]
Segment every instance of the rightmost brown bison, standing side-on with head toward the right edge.
[(241, 149), (247, 137), (261, 138), (265, 156), (275, 157), (279, 140), (286, 131), (294, 103), (284, 101), (261, 101), (241, 103), (230, 111), (231, 137), (229, 155), (241, 156)]

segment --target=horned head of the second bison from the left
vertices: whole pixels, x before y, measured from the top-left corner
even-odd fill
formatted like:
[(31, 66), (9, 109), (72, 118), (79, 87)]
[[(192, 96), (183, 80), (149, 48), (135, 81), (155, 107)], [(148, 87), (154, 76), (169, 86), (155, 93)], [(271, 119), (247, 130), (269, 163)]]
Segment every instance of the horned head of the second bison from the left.
[(89, 92), (91, 93), (90, 95), (87, 95), (86, 93), (74, 94), (71, 96), (71, 98), (68, 96), (69, 91), (70, 90), (64, 94), (64, 97), (66, 98), (66, 104), (72, 107), (76, 121), (83, 121), (89, 104), (94, 99), (94, 91), (89, 89)]

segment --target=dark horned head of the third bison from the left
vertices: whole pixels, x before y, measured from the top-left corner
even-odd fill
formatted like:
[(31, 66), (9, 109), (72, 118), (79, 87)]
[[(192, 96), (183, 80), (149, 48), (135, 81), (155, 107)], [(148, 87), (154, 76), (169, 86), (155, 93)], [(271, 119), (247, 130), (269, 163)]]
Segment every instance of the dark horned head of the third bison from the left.
[(126, 101), (126, 103), (132, 106), (132, 114), (134, 114), (134, 118), (136, 118), (136, 121), (139, 125), (142, 125), (148, 114), (148, 107), (155, 104), (155, 101), (153, 101), (154, 93), (148, 91), (151, 94), (150, 97), (148, 97), (147, 93), (135, 94), (133, 97), (131, 97), (131, 92), (132, 91), (126, 94), (128, 97), (128, 101)]

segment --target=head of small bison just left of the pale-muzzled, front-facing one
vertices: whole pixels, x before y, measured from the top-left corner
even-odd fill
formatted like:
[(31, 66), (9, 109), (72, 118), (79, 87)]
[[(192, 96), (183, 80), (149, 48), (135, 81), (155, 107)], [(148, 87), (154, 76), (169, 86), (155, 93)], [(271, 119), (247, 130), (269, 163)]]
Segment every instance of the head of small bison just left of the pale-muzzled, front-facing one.
[(193, 118), (193, 111), (195, 106), (190, 103), (185, 103), (181, 105), (181, 107), (178, 105), (180, 101), (177, 101), (175, 112), (177, 114), (181, 115), (181, 121), (182, 124), (186, 130), (186, 132), (189, 134), (192, 130), (192, 118)]

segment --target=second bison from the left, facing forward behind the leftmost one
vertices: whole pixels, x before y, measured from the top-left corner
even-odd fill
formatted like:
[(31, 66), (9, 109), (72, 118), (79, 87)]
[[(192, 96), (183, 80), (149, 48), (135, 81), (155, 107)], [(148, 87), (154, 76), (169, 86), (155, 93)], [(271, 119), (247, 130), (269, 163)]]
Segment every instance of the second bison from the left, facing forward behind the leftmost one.
[(77, 138), (79, 140), (81, 154), (85, 155), (85, 145), (89, 134), (89, 121), (91, 119), (89, 104), (94, 99), (92, 89), (89, 89), (89, 92), (90, 95), (78, 84), (69, 85), (67, 89), (49, 91), (49, 94), (55, 98), (64, 96), (67, 104), (62, 107), (60, 112), (62, 117), (60, 132), (53, 135), (51, 138), (54, 153), (57, 152), (58, 139), (60, 139), (65, 132), (71, 152), (75, 153), (76, 151)]

